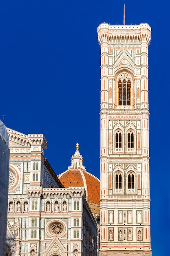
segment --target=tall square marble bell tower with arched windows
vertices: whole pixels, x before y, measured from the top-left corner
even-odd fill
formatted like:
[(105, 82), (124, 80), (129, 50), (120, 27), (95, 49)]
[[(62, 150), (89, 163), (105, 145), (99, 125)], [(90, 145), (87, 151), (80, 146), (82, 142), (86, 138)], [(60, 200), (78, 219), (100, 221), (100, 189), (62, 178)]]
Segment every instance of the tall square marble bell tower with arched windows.
[(148, 45), (151, 28), (97, 28), (101, 46), (100, 256), (152, 255)]

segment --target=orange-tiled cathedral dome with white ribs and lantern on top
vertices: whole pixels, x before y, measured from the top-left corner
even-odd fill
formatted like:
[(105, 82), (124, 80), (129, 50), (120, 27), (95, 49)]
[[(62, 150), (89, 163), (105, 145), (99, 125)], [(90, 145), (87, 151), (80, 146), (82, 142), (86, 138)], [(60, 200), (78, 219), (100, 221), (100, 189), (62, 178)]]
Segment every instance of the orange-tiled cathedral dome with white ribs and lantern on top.
[(86, 201), (92, 213), (99, 214), (100, 180), (86, 171), (83, 166), (83, 157), (78, 149), (77, 144), (75, 154), (71, 158), (71, 166), (68, 166), (67, 171), (58, 175), (58, 178), (64, 187), (83, 186), (86, 190)]

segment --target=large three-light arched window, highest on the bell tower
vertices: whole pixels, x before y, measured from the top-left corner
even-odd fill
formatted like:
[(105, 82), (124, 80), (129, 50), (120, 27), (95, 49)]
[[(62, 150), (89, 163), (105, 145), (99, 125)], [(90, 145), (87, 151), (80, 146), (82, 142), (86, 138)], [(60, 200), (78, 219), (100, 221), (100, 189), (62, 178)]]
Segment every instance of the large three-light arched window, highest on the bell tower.
[(129, 106), (131, 104), (131, 82), (130, 79), (119, 79), (118, 81), (118, 105)]

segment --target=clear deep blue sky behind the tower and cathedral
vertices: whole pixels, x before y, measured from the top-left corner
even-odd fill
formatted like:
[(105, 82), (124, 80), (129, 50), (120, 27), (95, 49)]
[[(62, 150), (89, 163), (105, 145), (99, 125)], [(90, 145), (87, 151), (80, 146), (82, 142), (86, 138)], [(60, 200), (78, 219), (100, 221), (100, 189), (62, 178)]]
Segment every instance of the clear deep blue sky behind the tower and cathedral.
[[(152, 256), (169, 255), (170, 2), (0, 0), (0, 118), (19, 132), (43, 133), (56, 174), (70, 165), (75, 144), (88, 172), (99, 174), (102, 22), (146, 22), (149, 46)], [(103, 5), (105, 4), (105, 5)], [(6, 115), (3, 120), (2, 115)]]

